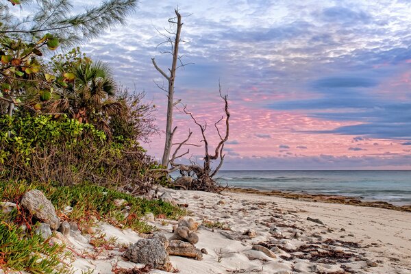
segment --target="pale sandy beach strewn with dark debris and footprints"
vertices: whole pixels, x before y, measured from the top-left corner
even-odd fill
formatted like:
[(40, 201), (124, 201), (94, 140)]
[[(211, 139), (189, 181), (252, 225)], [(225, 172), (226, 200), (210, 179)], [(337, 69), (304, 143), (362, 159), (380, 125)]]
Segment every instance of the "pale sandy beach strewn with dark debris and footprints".
[[(206, 250), (203, 260), (170, 256), (178, 273), (411, 273), (410, 212), (249, 193), (165, 191), (188, 205), (184, 219), (199, 223), (195, 247)], [(169, 238), (177, 221), (156, 218), (149, 224)], [(95, 260), (81, 255), (92, 252), (87, 236), (70, 236), (75, 273), (144, 266), (121, 255), (147, 236), (105, 223), (96, 227), (105, 238), (115, 236), (116, 247)]]

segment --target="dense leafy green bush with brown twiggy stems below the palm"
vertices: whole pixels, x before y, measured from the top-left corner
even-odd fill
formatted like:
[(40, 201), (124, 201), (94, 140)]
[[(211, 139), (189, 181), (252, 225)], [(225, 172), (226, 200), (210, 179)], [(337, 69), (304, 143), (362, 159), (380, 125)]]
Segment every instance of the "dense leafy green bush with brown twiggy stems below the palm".
[[(0, 179), (90, 182), (145, 192), (158, 182), (147, 175), (158, 164), (132, 140), (105, 134), (87, 123), (51, 116), (0, 116)], [(121, 140), (116, 141), (116, 140)]]

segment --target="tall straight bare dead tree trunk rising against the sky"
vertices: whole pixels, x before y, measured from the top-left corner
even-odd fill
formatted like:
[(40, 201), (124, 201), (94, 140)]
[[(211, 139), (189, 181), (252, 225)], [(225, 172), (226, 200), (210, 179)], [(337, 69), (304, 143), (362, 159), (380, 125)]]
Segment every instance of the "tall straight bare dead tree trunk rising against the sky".
[(153, 65), (157, 71), (159, 71), (164, 78), (167, 79), (169, 82), (169, 90), (168, 90), (168, 103), (167, 103), (167, 121), (166, 121), (166, 140), (164, 144), (164, 152), (162, 155), (162, 165), (163, 166), (168, 166), (169, 165), (169, 158), (170, 158), (170, 152), (171, 152), (171, 144), (173, 142), (173, 135), (175, 133), (175, 129), (177, 127), (173, 128), (173, 108), (174, 108), (174, 81), (175, 81), (175, 72), (177, 71), (177, 61), (179, 60), (178, 56), (178, 47), (179, 47), (179, 42), (180, 42), (180, 33), (182, 30), (182, 16), (179, 14), (177, 10), (175, 11), (175, 15), (177, 16), (177, 22), (172, 21), (171, 19), (169, 22), (175, 23), (177, 25), (177, 31), (175, 32), (175, 40), (174, 42), (171, 42), (173, 45), (173, 63), (171, 64), (171, 69), (170, 71), (170, 76), (166, 75), (160, 67), (155, 63), (154, 58), (151, 59), (153, 62)]

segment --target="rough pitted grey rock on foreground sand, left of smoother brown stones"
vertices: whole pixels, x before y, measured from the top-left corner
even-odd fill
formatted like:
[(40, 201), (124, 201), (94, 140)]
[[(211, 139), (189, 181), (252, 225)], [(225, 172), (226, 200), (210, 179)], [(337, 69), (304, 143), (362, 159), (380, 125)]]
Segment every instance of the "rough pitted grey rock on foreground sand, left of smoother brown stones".
[(171, 271), (173, 265), (170, 262), (166, 248), (169, 241), (163, 234), (155, 234), (153, 238), (138, 240), (124, 253), (124, 257), (138, 264), (151, 264), (155, 269)]

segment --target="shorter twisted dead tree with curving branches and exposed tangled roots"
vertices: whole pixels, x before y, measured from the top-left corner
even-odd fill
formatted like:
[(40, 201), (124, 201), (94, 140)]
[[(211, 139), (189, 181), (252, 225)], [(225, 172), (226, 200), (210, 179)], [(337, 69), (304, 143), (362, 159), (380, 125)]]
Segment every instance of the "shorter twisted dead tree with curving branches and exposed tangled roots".
[[(184, 153), (179, 154), (183, 147), (186, 146), (197, 146), (195, 144), (190, 144), (188, 141), (190, 140), (192, 136), (192, 132), (188, 132), (187, 138), (179, 143), (173, 144), (177, 145), (175, 151), (173, 152), (173, 155), (171, 155), (171, 159), (169, 160), (169, 163), (171, 165), (170, 169), (157, 169), (153, 171), (157, 171), (160, 173), (172, 173), (174, 171), (180, 171), (182, 173), (184, 178), (184, 183), (180, 183), (179, 179), (175, 181), (175, 185), (185, 188), (185, 189), (190, 189), (190, 190), (202, 190), (202, 191), (209, 191), (209, 192), (220, 192), (221, 191), (221, 186), (216, 180), (213, 179), (213, 177), (216, 175), (216, 173), (219, 172), (221, 169), (221, 166), (223, 165), (223, 161), (225, 158), (225, 154), (223, 153), (224, 145), (225, 142), (228, 140), (229, 136), (229, 110), (228, 110), (228, 96), (227, 95), (221, 95), (221, 86), (219, 87), (219, 93), (221, 99), (224, 101), (224, 115), (221, 116), (221, 119), (219, 121), (216, 121), (214, 123), (214, 127), (216, 128), (216, 132), (219, 135), (220, 141), (216, 145), (215, 149), (212, 150), (212, 153), (210, 153), (210, 144), (206, 138), (206, 130), (207, 130), (207, 123), (201, 124), (195, 119), (195, 116), (193, 116), (192, 112), (189, 112), (187, 110), (187, 106), (184, 105), (184, 112), (188, 115), (190, 115), (192, 121), (194, 121), (195, 125), (197, 125), (200, 129), (202, 140), (203, 142), (203, 147), (204, 147), (204, 158), (203, 158), (203, 164), (198, 164), (197, 162), (194, 162), (192, 160), (189, 160), (190, 164), (182, 164), (182, 163), (177, 163), (176, 160), (179, 158), (182, 158), (184, 155), (188, 155), (190, 153), (190, 149), (185, 151)], [(224, 134), (221, 134), (221, 131), (218, 127), (219, 123), (222, 121), (225, 122), (225, 132)], [(218, 161), (218, 164), (214, 164), (215, 167), (213, 167), (212, 163), (214, 161)]]

